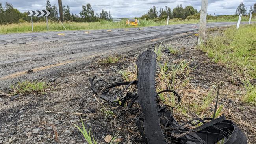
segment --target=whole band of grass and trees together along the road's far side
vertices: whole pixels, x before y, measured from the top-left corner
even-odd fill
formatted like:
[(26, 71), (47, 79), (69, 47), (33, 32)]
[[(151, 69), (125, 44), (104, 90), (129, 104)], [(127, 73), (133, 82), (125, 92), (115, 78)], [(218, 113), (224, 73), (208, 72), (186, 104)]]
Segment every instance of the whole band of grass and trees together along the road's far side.
[[(65, 31), (67, 30), (97, 30), (97, 29), (113, 29), (113, 28), (128, 28), (125, 24), (127, 18), (122, 18), (120, 22), (112, 22), (111, 12), (102, 9), (100, 14), (94, 12), (91, 4), (82, 5), (82, 11), (79, 14), (71, 14), (69, 6), (63, 6), (63, 13), (65, 22), (60, 23), (58, 17), (57, 6), (51, 5), (49, 0), (46, 0), (46, 9), (51, 11), (49, 19), (49, 31)], [(237, 11), (243, 14), (242, 21), (249, 20), (249, 14), (244, 5), (237, 7)], [(253, 11), (252, 21), (256, 21), (256, 3), (249, 10)], [(198, 23), (200, 13), (193, 6), (183, 7), (181, 4), (176, 6), (173, 10), (165, 6), (159, 10), (155, 6), (151, 7), (147, 13), (139, 19), (139, 27), (144, 26), (160, 26), (167, 24), (167, 17), (169, 17), (169, 24), (190, 24)], [(237, 22), (239, 14), (236, 15), (208, 15), (207, 22)], [(134, 27), (134, 26), (130, 26)], [(33, 30), (35, 32), (47, 31), (45, 17), (33, 17)], [(5, 7), (0, 3), (0, 34), (4, 33), (25, 33), (31, 32), (31, 20), (27, 12), (20, 13), (10, 3), (6, 2)]]

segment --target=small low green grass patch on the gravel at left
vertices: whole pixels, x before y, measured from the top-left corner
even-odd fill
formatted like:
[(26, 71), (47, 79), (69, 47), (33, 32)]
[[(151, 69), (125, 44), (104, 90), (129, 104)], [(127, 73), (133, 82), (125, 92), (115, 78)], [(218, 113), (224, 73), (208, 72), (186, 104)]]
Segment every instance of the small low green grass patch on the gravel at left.
[(50, 84), (44, 81), (22, 81), (17, 82), (16, 85), (11, 86), (11, 94), (46, 94), (49, 88)]

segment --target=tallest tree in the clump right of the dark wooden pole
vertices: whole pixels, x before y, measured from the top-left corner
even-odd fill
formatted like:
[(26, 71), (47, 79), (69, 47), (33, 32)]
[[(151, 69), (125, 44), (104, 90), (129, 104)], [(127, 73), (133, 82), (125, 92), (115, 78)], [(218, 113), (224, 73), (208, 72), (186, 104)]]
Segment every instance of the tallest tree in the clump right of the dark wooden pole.
[(86, 4), (86, 6), (82, 5), (82, 11), (79, 15), (85, 20), (85, 22), (93, 22), (95, 19), (91, 4)]

